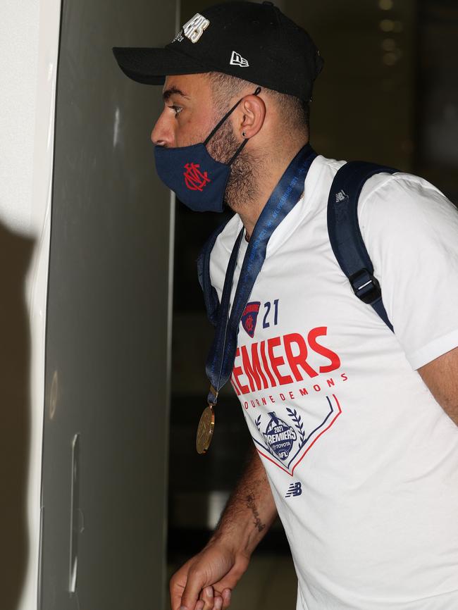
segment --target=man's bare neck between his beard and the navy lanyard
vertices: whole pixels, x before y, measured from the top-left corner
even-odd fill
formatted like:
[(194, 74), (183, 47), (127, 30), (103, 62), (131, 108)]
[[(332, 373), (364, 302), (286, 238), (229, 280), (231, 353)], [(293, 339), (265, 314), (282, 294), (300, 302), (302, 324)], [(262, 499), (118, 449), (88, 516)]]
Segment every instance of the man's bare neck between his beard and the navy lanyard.
[(237, 204), (231, 206), (242, 219), (247, 240), (252, 235), (254, 225), (256, 225), (261, 211), (263, 211), (273, 190), (278, 185), (278, 182), (280, 182), (280, 178), (285, 173), (292, 159), (295, 158), (296, 154), (305, 144), (307, 142), (302, 142), (297, 147), (285, 151), (280, 159), (276, 158), (271, 163), (266, 163), (262, 174), (257, 176), (257, 184), (254, 189), (256, 195), (249, 201), (241, 201), (240, 204), (237, 202)]

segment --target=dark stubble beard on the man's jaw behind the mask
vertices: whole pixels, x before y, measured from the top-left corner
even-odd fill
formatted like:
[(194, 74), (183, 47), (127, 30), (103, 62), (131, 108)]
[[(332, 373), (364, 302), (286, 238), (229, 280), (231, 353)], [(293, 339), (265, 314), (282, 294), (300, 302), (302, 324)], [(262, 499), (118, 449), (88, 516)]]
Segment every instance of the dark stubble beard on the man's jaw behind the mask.
[[(209, 154), (221, 163), (228, 163), (240, 146), (229, 122), (223, 123), (206, 145)], [(254, 154), (243, 149), (230, 166), (224, 201), (235, 212), (243, 211), (259, 194), (257, 187), (259, 163)]]

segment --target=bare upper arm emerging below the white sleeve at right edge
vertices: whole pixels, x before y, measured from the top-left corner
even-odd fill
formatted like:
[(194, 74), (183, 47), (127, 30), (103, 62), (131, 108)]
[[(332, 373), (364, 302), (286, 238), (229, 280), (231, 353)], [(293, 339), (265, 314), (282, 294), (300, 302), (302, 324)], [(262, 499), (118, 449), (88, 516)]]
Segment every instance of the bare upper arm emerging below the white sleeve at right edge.
[(458, 425), (458, 347), (418, 369), (445, 413)]

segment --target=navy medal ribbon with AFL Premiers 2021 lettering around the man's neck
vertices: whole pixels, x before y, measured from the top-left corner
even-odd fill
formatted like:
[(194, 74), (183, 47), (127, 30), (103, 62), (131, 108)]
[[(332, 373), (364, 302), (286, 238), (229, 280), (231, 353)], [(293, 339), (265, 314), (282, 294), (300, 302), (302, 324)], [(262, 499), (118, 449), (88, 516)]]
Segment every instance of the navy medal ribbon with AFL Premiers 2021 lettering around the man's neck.
[(206, 360), (206, 375), (211, 384), (208, 401), (211, 405), (216, 404), (218, 392), (232, 374), (240, 318), (252, 293), (254, 282), (256, 282), (266, 259), (268, 240), (281, 221), (299, 201), (304, 191), (305, 177), (315, 157), (316, 152), (310, 144), (306, 144), (293, 158), (261, 211), (249, 239), (229, 316), (230, 293), (233, 287), (235, 267), (237, 266), (237, 255), (245, 229), (242, 228), (235, 240), (225, 274), (215, 337)]

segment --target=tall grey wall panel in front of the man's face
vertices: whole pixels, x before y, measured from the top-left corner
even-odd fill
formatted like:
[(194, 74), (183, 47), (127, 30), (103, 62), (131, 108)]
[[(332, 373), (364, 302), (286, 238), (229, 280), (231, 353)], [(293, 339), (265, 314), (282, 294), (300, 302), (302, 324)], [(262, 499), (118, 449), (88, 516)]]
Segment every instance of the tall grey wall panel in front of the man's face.
[(42, 610), (165, 604), (171, 206), (149, 141), (161, 89), (128, 80), (111, 46), (161, 46), (174, 30), (174, 2), (63, 1)]

